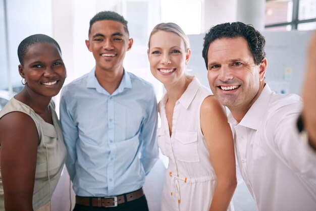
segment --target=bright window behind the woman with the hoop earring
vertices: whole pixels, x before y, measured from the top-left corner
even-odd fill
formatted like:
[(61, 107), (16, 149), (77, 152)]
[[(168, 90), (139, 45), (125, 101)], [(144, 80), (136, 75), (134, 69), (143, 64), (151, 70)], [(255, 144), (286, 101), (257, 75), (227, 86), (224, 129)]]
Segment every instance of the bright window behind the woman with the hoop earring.
[(0, 4), (0, 89), (18, 92), (23, 87), (18, 71), (18, 45), (32, 34), (52, 36), (51, 2), (0, 0)]

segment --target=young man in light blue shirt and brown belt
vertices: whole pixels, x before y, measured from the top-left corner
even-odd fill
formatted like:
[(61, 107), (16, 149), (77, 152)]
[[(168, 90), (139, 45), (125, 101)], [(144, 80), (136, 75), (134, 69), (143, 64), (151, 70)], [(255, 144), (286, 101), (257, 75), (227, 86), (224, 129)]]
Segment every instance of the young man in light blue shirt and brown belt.
[(132, 44), (122, 16), (96, 14), (86, 40), (95, 67), (63, 88), (60, 117), (74, 210), (148, 210), (142, 186), (159, 156), (157, 103), (153, 87), (123, 68)]

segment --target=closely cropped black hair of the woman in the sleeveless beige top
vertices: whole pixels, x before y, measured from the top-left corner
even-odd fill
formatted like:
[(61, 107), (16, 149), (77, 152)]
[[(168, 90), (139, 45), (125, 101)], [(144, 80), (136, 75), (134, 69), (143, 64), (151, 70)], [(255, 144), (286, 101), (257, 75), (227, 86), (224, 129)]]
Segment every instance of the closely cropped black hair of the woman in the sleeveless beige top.
[(43, 43), (43, 42), (55, 44), (56, 47), (59, 49), (59, 51), (62, 53), (61, 47), (59, 46), (58, 42), (55, 39), (45, 34), (33, 34), (23, 39), (22, 42), (19, 44), (18, 57), (19, 57), (20, 64), (23, 65), (24, 57), (27, 53), (29, 46), (33, 44), (37, 44), (37, 43)]

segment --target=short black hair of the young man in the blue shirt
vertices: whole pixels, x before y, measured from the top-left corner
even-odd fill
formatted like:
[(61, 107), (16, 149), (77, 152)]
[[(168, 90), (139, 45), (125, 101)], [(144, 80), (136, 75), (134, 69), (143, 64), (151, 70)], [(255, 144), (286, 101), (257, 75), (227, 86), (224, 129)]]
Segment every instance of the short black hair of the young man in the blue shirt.
[(97, 13), (93, 18), (90, 20), (89, 26), (89, 35), (91, 33), (92, 25), (97, 21), (104, 21), (104, 20), (111, 20), (111, 21), (118, 21), (124, 26), (125, 32), (129, 35), (128, 28), (127, 28), (127, 20), (124, 19), (123, 16), (120, 14), (113, 12), (113, 11), (102, 11)]

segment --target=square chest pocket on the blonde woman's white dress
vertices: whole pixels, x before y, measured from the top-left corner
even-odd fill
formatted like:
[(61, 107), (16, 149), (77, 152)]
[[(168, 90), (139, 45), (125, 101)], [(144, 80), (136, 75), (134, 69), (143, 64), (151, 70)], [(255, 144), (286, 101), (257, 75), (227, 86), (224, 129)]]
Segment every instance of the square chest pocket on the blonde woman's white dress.
[(196, 132), (176, 131), (174, 139), (177, 160), (190, 163), (199, 162)]

